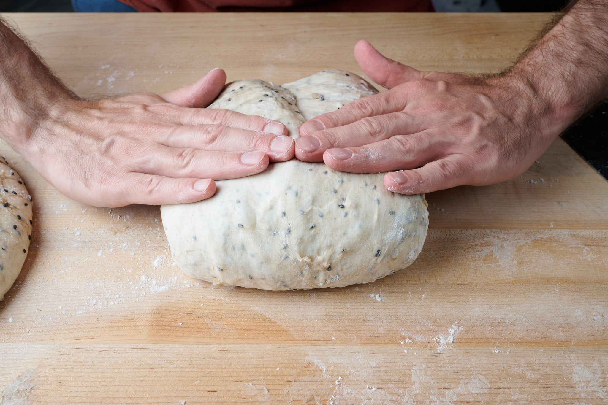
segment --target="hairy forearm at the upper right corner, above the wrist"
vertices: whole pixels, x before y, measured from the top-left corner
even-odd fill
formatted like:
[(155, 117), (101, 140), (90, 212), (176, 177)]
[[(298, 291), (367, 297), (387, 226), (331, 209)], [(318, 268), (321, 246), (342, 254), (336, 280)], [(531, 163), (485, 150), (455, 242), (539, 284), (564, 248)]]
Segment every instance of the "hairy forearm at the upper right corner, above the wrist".
[(506, 74), (525, 78), (563, 130), (608, 97), (608, 1), (573, 5)]

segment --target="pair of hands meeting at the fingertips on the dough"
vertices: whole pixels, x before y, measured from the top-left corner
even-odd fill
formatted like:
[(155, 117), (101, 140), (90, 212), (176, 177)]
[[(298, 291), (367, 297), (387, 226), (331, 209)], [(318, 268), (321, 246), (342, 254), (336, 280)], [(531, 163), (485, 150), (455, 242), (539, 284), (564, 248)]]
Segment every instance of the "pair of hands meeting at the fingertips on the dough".
[(58, 104), (22, 153), (67, 197), (112, 207), (207, 199), (213, 180), (294, 155), (339, 171), (389, 171), (384, 185), (402, 194), (487, 185), (525, 171), (558, 135), (542, 129), (536, 112), (546, 103), (523, 80), (420, 72), (366, 41), (355, 56), (389, 90), (313, 118), (295, 142), (277, 121), (198, 108), (224, 86), (214, 69), (161, 96)]

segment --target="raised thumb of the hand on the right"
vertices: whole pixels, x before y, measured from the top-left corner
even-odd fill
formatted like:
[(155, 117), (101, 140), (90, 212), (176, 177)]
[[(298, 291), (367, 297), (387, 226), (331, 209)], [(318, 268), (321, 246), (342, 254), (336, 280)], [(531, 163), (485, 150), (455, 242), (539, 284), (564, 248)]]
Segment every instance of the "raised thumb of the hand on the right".
[(387, 89), (404, 81), (423, 78), (427, 73), (386, 58), (365, 40), (354, 46), (354, 57), (371, 80)]

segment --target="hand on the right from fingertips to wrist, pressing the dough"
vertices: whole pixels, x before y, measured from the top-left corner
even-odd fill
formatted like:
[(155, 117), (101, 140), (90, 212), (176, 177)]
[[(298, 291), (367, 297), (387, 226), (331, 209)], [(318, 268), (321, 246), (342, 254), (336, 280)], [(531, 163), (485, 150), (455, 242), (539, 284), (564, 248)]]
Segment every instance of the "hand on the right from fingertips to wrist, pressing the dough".
[(402, 194), (488, 185), (524, 172), (561, 128), (547, 128), (546, 100), (524, 80), (420, 72), (367, 41), (355, 47), (365, 73), (389, 90), (305, 123), (296, 156), (332, 169), (390, 172)]

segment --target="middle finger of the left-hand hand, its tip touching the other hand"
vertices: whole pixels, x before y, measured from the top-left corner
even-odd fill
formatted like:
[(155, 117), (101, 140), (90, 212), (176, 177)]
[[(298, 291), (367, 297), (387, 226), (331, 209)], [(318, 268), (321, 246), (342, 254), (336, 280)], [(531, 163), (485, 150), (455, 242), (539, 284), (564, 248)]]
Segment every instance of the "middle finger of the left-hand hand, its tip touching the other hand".
[(251, 152), (268, 154), (272, 162), (285, 162), (294, 157), (293, 138), (261, 131), (232, 128), (225, 125), (183, 125), (175, 127), (164, 140), (170, 148), (195, 148), (205, 151)]

